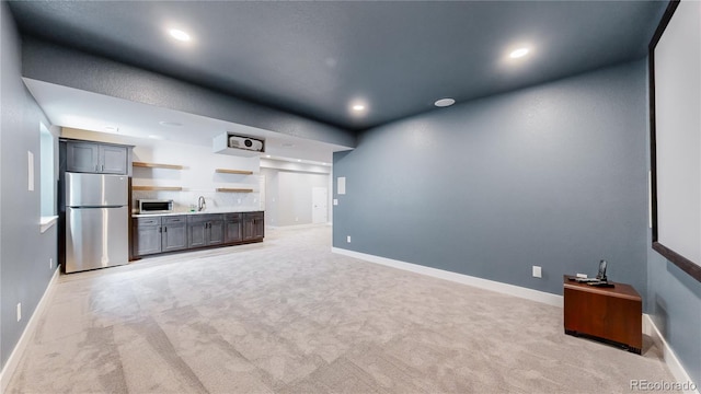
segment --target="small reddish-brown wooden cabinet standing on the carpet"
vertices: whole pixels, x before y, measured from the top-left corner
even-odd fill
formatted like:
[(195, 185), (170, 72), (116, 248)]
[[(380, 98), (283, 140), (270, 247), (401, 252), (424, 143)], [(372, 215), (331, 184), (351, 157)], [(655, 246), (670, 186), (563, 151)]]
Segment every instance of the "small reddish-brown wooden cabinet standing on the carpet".
[(643, 303), (632, 286), (599, 288), (564, 277), (565, 334), (587, 336), (641, 354)]

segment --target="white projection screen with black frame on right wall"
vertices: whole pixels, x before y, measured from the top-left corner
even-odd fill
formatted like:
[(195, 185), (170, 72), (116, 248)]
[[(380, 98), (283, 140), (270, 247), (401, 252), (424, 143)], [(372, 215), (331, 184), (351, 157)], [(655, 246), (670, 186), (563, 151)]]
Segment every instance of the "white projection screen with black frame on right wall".
[(650, 73), (653, 248), (701, 281), (701, 2), (670, 2)]

